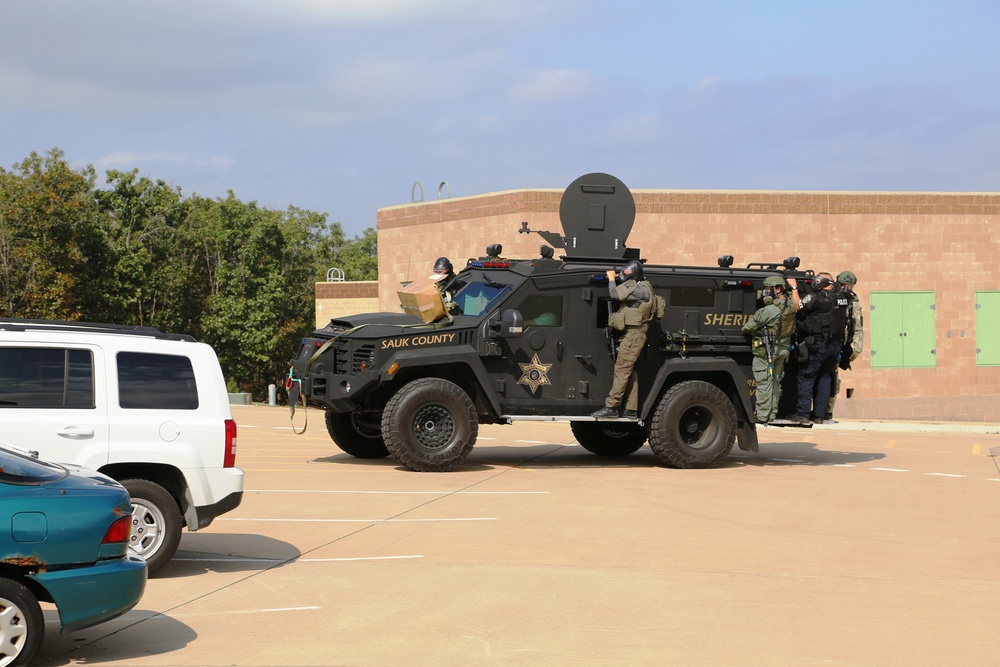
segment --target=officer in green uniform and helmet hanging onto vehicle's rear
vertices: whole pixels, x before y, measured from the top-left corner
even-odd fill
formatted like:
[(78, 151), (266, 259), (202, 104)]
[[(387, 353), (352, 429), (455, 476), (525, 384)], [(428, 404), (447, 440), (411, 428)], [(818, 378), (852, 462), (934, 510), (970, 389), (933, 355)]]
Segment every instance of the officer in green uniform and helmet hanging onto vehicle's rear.
[(795, 333), (796, 309), (788, 299), (785, 279), (781, 276), (764, 279), (762, 297), (764, 305), (743, 325), (743, 333), (752, 337), (757, 423), (767, 424), (778, 416), (781, 380)]

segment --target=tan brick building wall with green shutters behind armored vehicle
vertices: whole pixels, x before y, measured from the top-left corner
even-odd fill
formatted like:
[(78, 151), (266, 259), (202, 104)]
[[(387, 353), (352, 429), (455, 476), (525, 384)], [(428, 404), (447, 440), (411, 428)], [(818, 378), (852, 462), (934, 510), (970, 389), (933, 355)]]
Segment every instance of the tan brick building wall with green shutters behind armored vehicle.
[[(976, 366), (977, 290), (1000, 289), (1000, 193), (735, 192), (634, 190), (628, 245), (655, 264), (737, 265), (796, 255), (802, 267), (849, 269), (866, 321), (872, 291), (933, 291), (937, 367), (872, 369), (867, 350), (842, 373), (842, 417), (1000, 421), (1000, 367)], [(502, 243), (509, 257), (536, 257), (561, 233), (561, 190), (517, 190), (378, 212), (380, 310), (395, 290), (441, 255), (456, 268)], [(557, 255), (558, 255), (557, 251)], [(867, 332), (866, 332), (867, 334)]]

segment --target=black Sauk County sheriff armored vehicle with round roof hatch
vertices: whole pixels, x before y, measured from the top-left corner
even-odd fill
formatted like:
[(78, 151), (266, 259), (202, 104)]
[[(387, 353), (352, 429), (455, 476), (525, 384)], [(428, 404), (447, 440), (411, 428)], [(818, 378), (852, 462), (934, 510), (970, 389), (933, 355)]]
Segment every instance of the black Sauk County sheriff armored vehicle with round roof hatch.
[[(736, 442), (757, 450), (751, 348), (741, 327), (769, 275), (795, 275), (797, 258), (733, 267), (645, 264), (666, 300), (636, 365), (637, 419), (596, 420), (614, 372), (609, 269), (641, 259), (625, 245), (632, 193), (594, 173), (566, 189), (564, 234), (537, 231), (538, 257), (490, 246), (458, 272), (451, 313), (337, 318), (303, 340), (291, 363), (289, 403), (326, 412), (337, 445), (355, 457), (392, 454), (417, 471), (460, 465), (480, 424), (569, 421), (585, 449), (625, 456), (645, 443), (671, 467), (718, 465)], [(524, 233), (535, 232), (522, 223)], [(562, 254), (556, 258), (555, 249)], [(299, 393), (301, 392), (301, 397)]]

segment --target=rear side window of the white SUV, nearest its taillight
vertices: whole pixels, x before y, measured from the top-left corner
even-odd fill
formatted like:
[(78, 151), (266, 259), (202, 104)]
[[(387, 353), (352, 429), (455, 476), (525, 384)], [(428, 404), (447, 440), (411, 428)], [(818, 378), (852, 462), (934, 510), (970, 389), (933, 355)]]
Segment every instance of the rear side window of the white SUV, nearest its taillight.
[(191, 360), (170, 354), (118, 353), (118, 404), (132, 410), (197, 410)]

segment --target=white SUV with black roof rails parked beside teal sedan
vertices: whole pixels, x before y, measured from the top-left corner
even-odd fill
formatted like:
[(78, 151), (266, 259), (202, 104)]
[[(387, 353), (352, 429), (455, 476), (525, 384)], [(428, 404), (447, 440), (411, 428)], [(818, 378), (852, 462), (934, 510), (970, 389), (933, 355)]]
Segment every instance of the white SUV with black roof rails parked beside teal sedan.
[(0, 319), (0, 438), (128, 489), (152, 573), (243, 499), (215, 351), (150, 327)]

